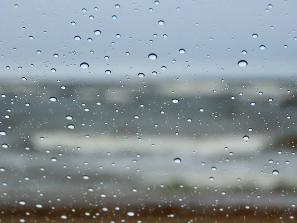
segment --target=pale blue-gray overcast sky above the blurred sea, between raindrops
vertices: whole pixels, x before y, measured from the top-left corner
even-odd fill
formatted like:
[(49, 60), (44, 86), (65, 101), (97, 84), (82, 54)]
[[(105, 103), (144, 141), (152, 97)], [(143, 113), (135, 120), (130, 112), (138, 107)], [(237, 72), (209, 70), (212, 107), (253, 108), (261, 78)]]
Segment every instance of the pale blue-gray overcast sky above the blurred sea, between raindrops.
[[(83, 8), (87, 11), (83, 12)], [(193, 74), (221, 78), (293, 77), (297, 71), (296, 8), (297, 1), (293, 0), (159, 0), (159, 4), (153, 0), (2, 1), (1, 78), (99, 81), (125, 79), (126, 75), (134, 79), (140, 72), (146, 75), (144, 80)], [(113, 19), (113, 15), (117, 18)], [(159, 25), (159, 20), (164, 25)], [(72, 21), (76, 24), (71, 25)], [(95, 35), (95, 30), (101, 34)], [(253, 38), (253, 33), (258, 38)], [(117, 34), (121, 37), (117, 38)], [(81, 40), (75, 40), (75, 36)], [(261, 50), (260, 45), (266, 48)], [(180, 54), (179, 49), (186, 53)], [(246, 55), (242, 54), (244, 50)], [(156, 54), (157, 59), (149, 59), (150, 53)], [(242, 59), (247, 60), (246, 67), (237, 64)], [(81, 68), (82, 62), (90, 67)], [(162, 66), (167, 69), (162, 70)], [(51, 72), (52, 68), (56, 72)], [(111, 70), (111, 74), (105, 70)], [(157, 75), (153, 76), (152, 71)]]

